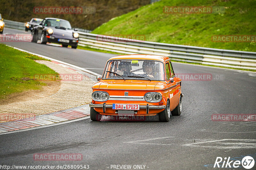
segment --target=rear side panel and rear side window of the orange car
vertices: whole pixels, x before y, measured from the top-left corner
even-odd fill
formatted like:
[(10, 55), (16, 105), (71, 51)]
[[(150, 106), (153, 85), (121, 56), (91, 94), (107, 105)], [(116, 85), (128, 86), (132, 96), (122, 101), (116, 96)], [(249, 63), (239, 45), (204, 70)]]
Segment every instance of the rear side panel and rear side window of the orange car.
[(178, 106), (179, 100), (180, 100), (180, 90), (181, 90), (181, 79), (175, 76), (175, 73), (173, 71), (172, 62), (169, 61), (169, 67), (171, 76), (173, 78), (173, 82), (175, 83), (175, 89), (176, 91), (173, 93), (173, 103), (175, 103), (175, 107)]

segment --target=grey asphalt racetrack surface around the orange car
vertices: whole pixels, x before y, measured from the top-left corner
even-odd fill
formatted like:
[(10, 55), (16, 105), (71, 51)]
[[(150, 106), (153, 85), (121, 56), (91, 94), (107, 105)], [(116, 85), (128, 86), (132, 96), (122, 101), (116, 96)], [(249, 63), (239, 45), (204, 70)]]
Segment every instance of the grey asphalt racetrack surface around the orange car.
[[(4, 28), (5, 32), (24, 33), (9, 28)], [(90, 70), (98, 74), (102, 74), (106, 60), (115, 56), (30, 42), (5, 44), (79, 67), (97, 68)], [(217, 157), (241, 161), (251, 155), (256, 160), (255, 121), (219, 122), (211, 118), (212, 114), (255, 114), (256, 73), (176, 62), (173, 67), (180, 75), (212, 75), (207, 81), (182, 81), (181, 116), (172, 116), (168, 123), (86, 119), (0, 135), (0, 164), (89, 165), (90, 169), (145, 165), (145, 169), (196, 170), (214, 169)], [(81, 153), (83, 160), (35, 161), (36, 153)]]

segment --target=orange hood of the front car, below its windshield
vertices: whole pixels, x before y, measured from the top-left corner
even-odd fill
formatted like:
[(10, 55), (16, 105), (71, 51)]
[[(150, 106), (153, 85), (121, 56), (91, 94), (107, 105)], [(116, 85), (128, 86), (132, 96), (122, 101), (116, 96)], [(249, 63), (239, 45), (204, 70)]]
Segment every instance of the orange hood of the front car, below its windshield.
[(154, 90), (157, 81), (100, 81), (92, 86), (93, 89), (124, 89), (124, 90)]

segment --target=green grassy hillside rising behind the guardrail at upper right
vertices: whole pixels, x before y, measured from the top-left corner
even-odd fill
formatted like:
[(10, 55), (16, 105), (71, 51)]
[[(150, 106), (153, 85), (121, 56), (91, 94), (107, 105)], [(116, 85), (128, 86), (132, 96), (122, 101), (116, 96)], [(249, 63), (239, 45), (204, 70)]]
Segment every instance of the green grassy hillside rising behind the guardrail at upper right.
[[(164, 6), (224, 6), (224, 14), (167, 14)], [(146, 40), (256, 52), (256, 42), (212, 42), (213, 35), (256, 35), (255, 0), (162, 0), (116, 17), (92, 33), (145, 35)]]

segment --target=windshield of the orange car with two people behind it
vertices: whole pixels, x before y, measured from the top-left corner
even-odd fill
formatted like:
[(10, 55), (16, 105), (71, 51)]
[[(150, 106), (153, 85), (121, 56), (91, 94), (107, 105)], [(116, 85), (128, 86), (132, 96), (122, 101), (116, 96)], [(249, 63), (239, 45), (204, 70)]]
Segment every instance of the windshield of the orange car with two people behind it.
[[(113, 72), (113, 73), (111, 73)], [(114, 74), (115, 73), (115, 74)], [(119, 75), (118, 75), (119, 74)], [(121, 76), (122, 77), (121, 77)], [(110, 60), (103, 79), (164, 80), (164, 65), (154, 60)]]

